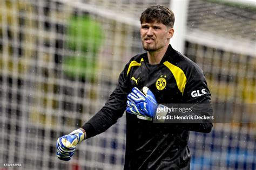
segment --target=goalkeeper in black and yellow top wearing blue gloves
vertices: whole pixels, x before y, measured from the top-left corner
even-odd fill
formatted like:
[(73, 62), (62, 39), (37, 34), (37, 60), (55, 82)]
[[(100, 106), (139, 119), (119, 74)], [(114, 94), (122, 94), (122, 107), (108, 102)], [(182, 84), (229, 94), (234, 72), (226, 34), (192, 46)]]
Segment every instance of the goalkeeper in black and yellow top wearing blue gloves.
[[(203, 71), (170, 45), (173, 12), (162, 5), (140, 16), (140, 37), (146, 53), (125, 65), (116, 89), (104, 107), (80, 129), (58, 138), (57, 157), (70, 160), (82, 140), (106, 131), (126, 110), (124, 169), (190, 169), (190, 131), (208, 133), (211, 122), (153, 123), (160, 103), (211, 103)], [(161, 113), (164, 115), (164, 113)], [(212, 109), (193, 114), (212, 116)]]

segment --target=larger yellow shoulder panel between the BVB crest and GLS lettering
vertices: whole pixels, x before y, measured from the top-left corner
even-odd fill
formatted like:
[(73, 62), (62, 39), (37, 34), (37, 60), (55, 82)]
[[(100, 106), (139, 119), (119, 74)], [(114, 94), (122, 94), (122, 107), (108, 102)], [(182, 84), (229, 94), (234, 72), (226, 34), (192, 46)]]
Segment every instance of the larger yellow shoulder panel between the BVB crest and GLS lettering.
[(182, 69), (180, 69), (179, 67), (173, 65), (172, 63), (170, 63), (168, 61), (165, 61), (164, 65), (167, 68), (169, 68), (170, 71), (172, 72), (174, 79), (176, 80), (178, 89), (183, 95), (185, 86), (186, 86), (186, 82), (187, 82), (187, 77), (186, 77), (185, 73), (183, 72)]

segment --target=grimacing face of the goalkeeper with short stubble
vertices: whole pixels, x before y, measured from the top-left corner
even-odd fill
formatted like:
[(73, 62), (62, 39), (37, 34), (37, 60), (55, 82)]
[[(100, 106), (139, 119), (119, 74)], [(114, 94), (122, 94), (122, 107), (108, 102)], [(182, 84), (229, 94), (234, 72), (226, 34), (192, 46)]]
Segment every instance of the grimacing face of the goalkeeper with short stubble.
[(140, 38), (146, 51), (159, 51), (172, 37), (173, 29), (161, 23), (142, 23), (140, 27)]

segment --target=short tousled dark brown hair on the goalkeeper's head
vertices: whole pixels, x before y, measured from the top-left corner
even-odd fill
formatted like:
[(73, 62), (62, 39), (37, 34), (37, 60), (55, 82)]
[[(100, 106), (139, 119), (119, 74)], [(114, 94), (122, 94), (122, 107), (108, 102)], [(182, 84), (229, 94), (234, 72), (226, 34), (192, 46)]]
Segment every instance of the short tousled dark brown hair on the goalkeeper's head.
[(175, 17), (174, 13), (166, 6), (153, 5), (142, 12), (139, 20), (140, 24), (157, 22), (173, 27)]

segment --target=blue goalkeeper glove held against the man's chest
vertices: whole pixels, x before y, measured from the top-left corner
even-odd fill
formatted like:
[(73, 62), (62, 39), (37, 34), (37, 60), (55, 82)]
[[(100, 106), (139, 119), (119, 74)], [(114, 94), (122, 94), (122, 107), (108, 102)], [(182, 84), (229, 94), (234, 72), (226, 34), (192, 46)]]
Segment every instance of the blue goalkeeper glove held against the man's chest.
[(149, 88), (143, 87), (142, 90), (143, 93), (137, 87), (132, 88), (132, 92), (127, 96), (126, 111), (151, 121), (158, 107), (156, 97)]

